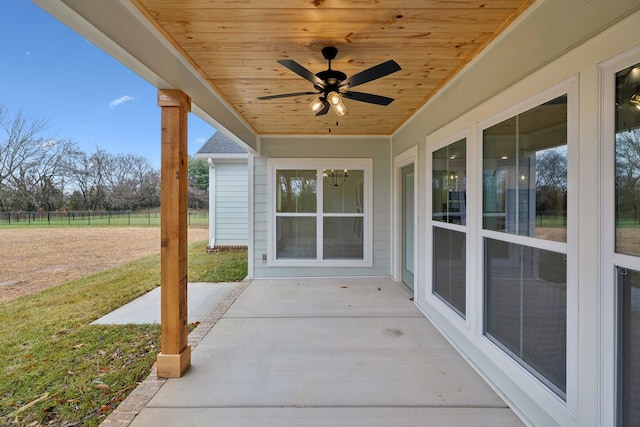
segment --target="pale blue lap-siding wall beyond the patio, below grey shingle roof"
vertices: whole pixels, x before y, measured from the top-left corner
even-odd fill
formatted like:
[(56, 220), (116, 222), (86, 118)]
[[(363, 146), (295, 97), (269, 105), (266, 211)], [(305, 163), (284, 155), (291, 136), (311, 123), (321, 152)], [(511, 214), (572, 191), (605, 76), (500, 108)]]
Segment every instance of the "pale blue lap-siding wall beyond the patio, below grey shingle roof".
[[(247, 246), (248, 172), (247, 162), (214, 161), (215, 246)], [(211, 182), (211, 181), (210, 181)], [(211, 243), (210, 239), (210, 245)]]

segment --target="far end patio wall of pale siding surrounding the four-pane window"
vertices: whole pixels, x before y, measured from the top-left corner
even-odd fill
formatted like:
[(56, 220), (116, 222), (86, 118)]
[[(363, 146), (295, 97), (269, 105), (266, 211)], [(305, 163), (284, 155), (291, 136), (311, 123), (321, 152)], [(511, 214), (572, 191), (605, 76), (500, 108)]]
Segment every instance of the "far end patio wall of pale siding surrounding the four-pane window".
[[(391, 266), (391, 161), (389, 138), (263, 137), (260, 157), (254, 158), (253, 277), (389, 276)], [(373, 212), (371, 266), (273, 266), (269, 240), (269, 159), (372, 159)], [(263, 254), (267, 260), (263, 260)]]

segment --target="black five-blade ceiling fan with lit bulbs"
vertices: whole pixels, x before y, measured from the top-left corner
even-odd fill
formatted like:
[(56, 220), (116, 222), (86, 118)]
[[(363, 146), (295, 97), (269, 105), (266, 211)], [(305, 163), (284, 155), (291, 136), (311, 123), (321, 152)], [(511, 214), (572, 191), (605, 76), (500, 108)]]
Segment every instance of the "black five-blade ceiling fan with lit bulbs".
[(354, 92), (351, 88), (400, 71), (400, 65), (398, 65), (396, 61), (391, 59), (347, 78), (347, 75), (342, 71), (331, 69), (331, 61), (335, 59), (337, 54), (338, 49), (333, 46), (323, 48), (322, 56), (329, 61), (329, 66), (325, 71), (320, 71), (316, 74), (291, 59), (278, 61), (279, 64), (313, 83), (315, 91), (261, 96), (258, 99), (269, 100), (303, 95), (320, 95), (318, 99), (315, 99), (309, 105), (311, 111), (313, 111), (316, 116), (327, 114), (329, 108), (332, 108), (338, 116), (344, 116), (347, 113), (347, 108), (342, 102), (342, 97), (376, 105), (389, 105), (393, 102), (393, 98), (364, 92)]

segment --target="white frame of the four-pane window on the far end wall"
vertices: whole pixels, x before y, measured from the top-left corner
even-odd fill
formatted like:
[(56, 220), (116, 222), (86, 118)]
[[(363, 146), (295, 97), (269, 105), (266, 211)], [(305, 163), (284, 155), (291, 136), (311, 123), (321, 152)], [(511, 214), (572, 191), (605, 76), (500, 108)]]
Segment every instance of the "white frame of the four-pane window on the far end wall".
[[(294, 169), (315, 169), (318, 176), (316, 187), (317, 209), (315, 213), (278, 213), (276, 212), (276, 171)], [(364, 178), (363, 206), (364, 213), (325, 213), (324, 207), (324, 180), (322, 170), (324, 169), (354, 169), (362, 170)], [(268, 209), (268, 250), (267, 266), (269, 267), (372, 267), (373, 266), (373, 159), (370, 158), (318, 158), (318, 159), (297, 159), (297, 158), (269, 158), (267, 161), (267, 209)], [(316, 258), (276, 258), (276, 218), (315, 216), (316, 218)], [(363, 218), (363, 258), (362, 259), (323, 259), (323, 220), (324, 218), (335, 217), (362, 217)]]

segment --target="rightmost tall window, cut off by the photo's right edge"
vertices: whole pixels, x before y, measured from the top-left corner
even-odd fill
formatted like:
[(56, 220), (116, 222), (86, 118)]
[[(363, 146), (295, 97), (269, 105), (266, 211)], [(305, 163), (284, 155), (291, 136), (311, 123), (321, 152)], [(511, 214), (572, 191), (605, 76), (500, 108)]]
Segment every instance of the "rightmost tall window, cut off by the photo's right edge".
[(615, 253), (618, 425), (640, 419), (640, 64), (615, 75)]

